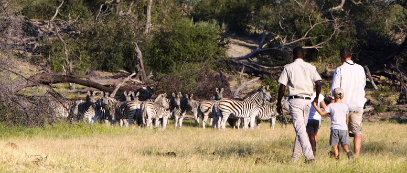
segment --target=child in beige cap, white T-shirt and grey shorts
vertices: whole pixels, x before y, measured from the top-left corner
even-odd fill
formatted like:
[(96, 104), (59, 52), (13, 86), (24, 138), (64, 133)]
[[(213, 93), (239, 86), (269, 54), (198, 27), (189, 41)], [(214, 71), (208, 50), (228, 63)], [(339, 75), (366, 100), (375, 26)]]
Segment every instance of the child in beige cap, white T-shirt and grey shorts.
[(336, 159), (339, 158), (338, 143), (341, 144), (343, 150), (349, 159), (352, 159), (353, 153), (349, 151), (348, 145), (348, 132), (347, 123), (349, 120), (349, 110), (345, 103), (342, 103), (344, 92), (342, 88), (334, 89), (335, 102), (330, 103), (324, 111), (319, 110), (316, 103), (313, 106), (320, 115), (329, 113), (331, 115), (331, 135), (329, 138), (329, 145), (332, 146), (333, 154)]

